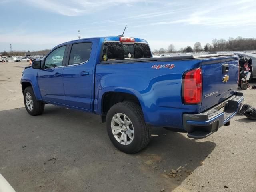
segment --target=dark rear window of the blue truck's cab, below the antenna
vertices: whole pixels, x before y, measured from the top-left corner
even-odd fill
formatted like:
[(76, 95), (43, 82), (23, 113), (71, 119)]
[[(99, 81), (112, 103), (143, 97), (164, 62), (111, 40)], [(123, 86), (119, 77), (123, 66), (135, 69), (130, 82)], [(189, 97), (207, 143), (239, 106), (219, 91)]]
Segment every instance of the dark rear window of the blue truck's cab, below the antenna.
[(102, 61), (126, 60), (152, 57), (147, 43), (105, 42)]

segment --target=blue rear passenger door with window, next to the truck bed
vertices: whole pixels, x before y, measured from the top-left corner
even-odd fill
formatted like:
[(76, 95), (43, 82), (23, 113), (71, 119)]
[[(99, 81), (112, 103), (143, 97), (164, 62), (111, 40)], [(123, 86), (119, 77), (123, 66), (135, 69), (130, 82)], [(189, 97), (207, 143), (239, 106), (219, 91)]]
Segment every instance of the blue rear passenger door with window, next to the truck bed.
[(92, 110), (93, 78), (97, 40), (77, 41), (70, 44), (63, 84), (66, 104)]

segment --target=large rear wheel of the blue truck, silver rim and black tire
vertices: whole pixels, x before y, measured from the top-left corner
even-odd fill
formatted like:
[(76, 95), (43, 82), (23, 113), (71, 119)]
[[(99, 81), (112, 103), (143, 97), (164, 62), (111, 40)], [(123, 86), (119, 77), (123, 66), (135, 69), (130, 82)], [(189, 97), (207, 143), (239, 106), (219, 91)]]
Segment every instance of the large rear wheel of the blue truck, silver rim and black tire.
[(150, 141), (150, 126), (144, 121), (141, 107), (134, 102), (113, 105), (108, 111), (106, 126), (111, 142), (122, 152), (139, 152)]

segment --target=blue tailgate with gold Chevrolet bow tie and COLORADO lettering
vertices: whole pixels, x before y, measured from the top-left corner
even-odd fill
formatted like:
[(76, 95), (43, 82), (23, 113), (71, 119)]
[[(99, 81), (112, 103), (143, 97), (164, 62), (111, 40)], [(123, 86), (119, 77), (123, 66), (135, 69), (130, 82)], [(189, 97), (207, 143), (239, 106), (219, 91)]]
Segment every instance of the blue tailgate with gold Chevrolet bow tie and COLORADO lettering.
[(203, 94), (200, 112), (232, 96), (237, 90), (238, 57), (203, 59)]

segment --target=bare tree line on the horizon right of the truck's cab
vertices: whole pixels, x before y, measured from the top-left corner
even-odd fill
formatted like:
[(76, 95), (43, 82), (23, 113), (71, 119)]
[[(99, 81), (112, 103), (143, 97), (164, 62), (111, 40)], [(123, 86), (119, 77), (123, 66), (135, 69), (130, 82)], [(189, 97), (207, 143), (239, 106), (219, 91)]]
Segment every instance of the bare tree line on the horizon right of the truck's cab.
[(256, 39), (255, 38), (242, 38), (238, 36), (237, 38), (228, 38), (225, 40), (213, 39), (212, 43), (206, 43), (204, 46), (200, 42), (196, 42), (194, 47), (186, 46), (180, 48), (180, 50), (175, 50), (173, 44), (170, 44), (167, 49), (160, 48), (159, 50), (154, 50), (154, 53), (172, 53), (172, 52), (210, 52), (210, 51), (246, 51), (246, 50), (256, 50)]

